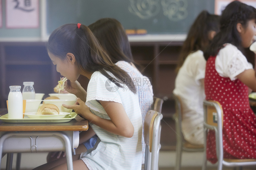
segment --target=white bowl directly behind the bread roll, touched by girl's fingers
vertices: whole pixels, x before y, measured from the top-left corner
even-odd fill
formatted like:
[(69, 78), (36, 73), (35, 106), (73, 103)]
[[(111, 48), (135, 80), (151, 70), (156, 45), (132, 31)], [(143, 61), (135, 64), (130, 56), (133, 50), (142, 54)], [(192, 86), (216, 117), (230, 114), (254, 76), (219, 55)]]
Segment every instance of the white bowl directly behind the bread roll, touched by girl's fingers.
[(43, 100), (46, 104), (55, 104), (59, 109), (60, 112), (72, 112), (72, 109), (67, 109), (62, 106), (62, 104), (66, 105), (73, 105), (76, 100), (63, 100), (63, 99), (49, 99), (49, 100)]

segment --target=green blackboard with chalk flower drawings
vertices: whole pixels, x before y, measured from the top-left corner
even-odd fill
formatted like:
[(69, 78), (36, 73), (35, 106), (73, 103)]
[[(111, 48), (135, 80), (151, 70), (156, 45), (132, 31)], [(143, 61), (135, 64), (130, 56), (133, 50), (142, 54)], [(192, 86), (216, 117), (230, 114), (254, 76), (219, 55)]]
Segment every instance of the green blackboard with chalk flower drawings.
[(47, 0), (47, 34), (67, 23), (89, 25), (115, 18), (125, 29), (148, 34), (186, 34), (197, 15), (214, 13), (214, 0)]

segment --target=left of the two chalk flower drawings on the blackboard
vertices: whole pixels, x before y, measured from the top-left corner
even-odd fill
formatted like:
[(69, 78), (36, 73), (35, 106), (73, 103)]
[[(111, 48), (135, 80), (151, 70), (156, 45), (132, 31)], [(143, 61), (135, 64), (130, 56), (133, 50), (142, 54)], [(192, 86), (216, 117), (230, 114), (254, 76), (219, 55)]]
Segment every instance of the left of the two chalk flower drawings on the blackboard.
[(141, 19), (149, 19), (160, 12), (159, 0), (130, 0), (129, 12)]

